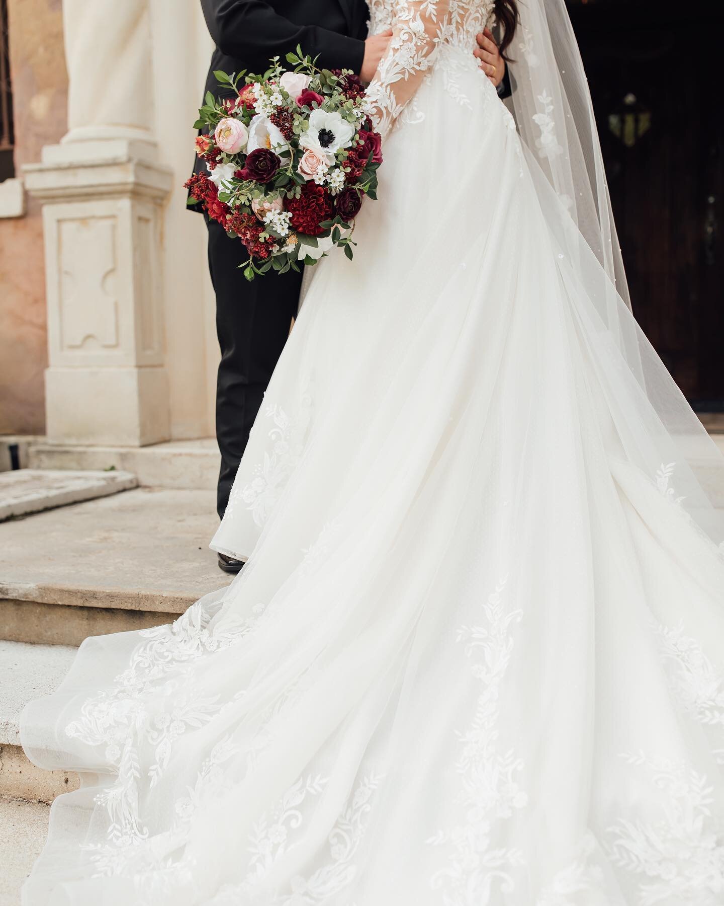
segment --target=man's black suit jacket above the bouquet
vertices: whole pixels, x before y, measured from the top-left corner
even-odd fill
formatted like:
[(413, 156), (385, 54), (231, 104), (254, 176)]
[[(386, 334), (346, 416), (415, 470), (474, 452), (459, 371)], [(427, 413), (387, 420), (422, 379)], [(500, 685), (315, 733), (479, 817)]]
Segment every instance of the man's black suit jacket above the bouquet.
[[(319, 55), (319, 65), (326, 69), (358, 73), (362, 68), (365, 0), (201, 0), (201, 8), (216, 45), (204, 96), (230, 93), (216, 82), (216, 70), (265, 72), (272, 56), (278, 55), (283, 63), (297, 44), (303, 53)], [(202, 170), (205, 163), (197, 158), (194, 172)]]

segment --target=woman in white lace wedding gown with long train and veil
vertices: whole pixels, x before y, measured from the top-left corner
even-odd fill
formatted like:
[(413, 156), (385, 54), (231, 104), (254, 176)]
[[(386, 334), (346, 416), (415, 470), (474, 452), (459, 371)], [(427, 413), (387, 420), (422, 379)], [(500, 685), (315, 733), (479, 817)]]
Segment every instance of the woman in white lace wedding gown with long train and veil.
[(724, 463), (627, 306), (564, 2), (514, 12), (372, 3), (382, 200), (271, 381), (248, 562), (26, 709), (86, 775), (26, 906), (724, 901)]

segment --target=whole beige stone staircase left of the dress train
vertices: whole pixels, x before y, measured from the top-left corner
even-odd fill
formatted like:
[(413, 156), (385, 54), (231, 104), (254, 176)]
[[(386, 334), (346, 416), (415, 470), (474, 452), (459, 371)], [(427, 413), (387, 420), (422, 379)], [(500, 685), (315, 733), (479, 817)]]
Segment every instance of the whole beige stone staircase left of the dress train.
[(218, 525), (213, 440), (143, 449), (34, 441), (22, 458), (30, 468), (13, 473), (18, 482), (52, 469), (63, 484), (83, 470), (130, 489), (0, 522), (0, 906), (18, 906), (49, 804), (80, 782), (24, 756), (26, 702), (57, 688), (88, 636), (169, 622), (229, 582), (208, 548)]

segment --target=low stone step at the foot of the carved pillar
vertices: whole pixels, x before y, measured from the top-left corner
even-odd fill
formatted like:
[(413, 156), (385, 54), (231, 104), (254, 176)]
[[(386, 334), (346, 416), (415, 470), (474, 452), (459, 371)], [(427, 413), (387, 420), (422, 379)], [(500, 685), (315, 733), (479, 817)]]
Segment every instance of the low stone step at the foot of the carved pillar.
[(141, 487), (213, 490), (219, 474), (219, 449), (213, 438), (172, 440), (150, 447), (64, 447), (33, 443), (33, 468), (105, 469), (132, 472)]

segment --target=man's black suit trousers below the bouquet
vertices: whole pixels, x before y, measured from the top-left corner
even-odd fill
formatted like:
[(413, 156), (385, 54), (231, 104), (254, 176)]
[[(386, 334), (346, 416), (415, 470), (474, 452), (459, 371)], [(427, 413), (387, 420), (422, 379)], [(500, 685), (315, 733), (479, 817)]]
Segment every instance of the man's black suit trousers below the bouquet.
[(216, 294), (221, 361), (216, 381), (216, 438), (221, 453), (216, 509), (224, 516), (233, 478), (257, 412), (297, 313), (301, 275), (257, 276), (239, 265), (248, 258), (241, 240), (206, 217), (209, 270)]

